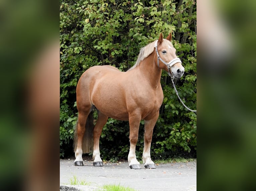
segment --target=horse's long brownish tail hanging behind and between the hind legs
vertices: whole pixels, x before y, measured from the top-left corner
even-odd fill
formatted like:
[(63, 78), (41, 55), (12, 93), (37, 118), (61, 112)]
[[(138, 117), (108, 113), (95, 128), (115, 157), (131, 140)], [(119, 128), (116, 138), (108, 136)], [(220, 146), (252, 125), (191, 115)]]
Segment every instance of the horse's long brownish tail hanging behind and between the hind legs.
[[(82, 142), (82, 149), (83, 149), (83, 153), (90, 153), (93, 151), (93, 110), (89, 113), (87, 120), (86, 120), (86, 125), (85, 125), (85, 134), (83, 137), (83, 142)], [(77, 121), (77, 125), (76, 125), (76, 129), (75, 129), (75, 133), (74, 133), (74, 152), (76, 152), (77, 149), (77, 126), (78, 126), (78, 121)]]

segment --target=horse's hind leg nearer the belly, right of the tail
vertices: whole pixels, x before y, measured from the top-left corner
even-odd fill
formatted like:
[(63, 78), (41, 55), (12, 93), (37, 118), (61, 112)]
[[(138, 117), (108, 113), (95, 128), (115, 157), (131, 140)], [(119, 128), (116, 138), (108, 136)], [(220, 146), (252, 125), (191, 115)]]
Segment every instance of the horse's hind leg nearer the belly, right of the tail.
[(98, 112), (98, 119), (93, 129), (93, 166), (103, 166), (101, 157), (100, 157), (100, 136), (103, 126), (108, 121), (108, 116), (104, 115), (102, 112)]

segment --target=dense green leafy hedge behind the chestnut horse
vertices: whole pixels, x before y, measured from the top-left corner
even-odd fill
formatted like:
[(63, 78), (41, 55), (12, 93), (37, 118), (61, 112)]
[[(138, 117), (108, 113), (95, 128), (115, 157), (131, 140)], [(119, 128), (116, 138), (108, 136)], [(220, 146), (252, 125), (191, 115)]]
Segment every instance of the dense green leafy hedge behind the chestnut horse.
[[(185, 68), (176, 82), (185, 104), (196, 109), (197, 46), (196, 2), (87, 0), (60, 1), (60, 156), (73, 155), (77, 121), (76, 85), (88, 68), (112, 65), (127, 71), (137, 60), (139, 49), (172, 32), (172, 43)], [(152, 158), (186, 155), (196, 157), (197, 116), (179, 102), (171, 81), (162, 72), (164, 92), (160, 116), (151, 144)], [(94, 113), (97, 118), (97, 112)], [(143, 124), (139, 130), (137, 155), (143, 151)], [(128, 121), (109, 118), (104, 126), (100, 149), (103, 159), (127, 158)], [(188, 154), (189, 155), (189, 154)]]

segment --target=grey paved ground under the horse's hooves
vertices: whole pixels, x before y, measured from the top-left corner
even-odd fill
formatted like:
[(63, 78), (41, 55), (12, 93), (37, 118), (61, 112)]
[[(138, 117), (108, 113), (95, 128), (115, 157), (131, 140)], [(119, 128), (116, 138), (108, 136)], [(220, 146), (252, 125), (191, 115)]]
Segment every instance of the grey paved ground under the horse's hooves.
[[(74, 160), (60, 159), (60, 190), (99, 190), (104, 184), (120, 184), (138, 191), (195, 191), (197, 162), (156, 165), (156, 169), (130, 169), (128, 162), (107, 163), (94, 167), (92, 161), (74, 166)], [(70, 185), (75, 176), (89, 185)]]

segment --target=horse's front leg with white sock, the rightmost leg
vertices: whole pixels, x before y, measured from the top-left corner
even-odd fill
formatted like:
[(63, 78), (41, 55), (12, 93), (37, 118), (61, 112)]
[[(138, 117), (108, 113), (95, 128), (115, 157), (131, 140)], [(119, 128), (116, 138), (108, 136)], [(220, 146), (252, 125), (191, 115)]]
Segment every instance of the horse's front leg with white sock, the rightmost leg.
[(158, 116), (159, 116), (159, 111), (156, 113), (156, 115), (152, 119), (145, 120), (144, 149), (143, 149), (143, 155), (142, 155), (142, 160), (145, 168), (155, 168), (154, 162), (150, 158), (150, 147), (151, 147), (153, 129), (158, 119)]

